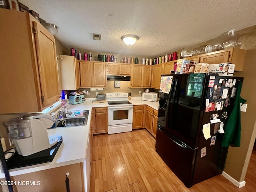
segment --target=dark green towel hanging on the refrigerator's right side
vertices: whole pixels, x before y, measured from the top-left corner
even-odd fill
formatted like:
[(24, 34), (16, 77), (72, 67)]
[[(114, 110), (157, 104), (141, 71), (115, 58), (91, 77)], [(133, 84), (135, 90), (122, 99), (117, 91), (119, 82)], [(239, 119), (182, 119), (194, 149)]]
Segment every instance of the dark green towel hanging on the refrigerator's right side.
[(234, 102), (234, 108), (228, 118), (225, 133), (222, 139), (222, 147), (240, 147), (241, 138), (241, 113), (240, 113), (240, 103), (244, 104), (245, 99), (240, 97), (242, 88), (242, 82), (238, 82), (237, 96)]

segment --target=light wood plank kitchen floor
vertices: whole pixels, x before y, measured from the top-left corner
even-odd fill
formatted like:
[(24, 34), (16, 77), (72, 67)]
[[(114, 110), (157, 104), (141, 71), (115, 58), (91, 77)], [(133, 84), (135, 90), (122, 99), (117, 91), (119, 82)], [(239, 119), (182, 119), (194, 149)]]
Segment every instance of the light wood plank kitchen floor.
[[(166, 146), (168, 147), (168, 146)], [(237, 188), (222, 175), (186, 188), (155, 151), (145, 130), (97, 135), (93, 140), (90, 192), (255, 192), (256, 152)]]

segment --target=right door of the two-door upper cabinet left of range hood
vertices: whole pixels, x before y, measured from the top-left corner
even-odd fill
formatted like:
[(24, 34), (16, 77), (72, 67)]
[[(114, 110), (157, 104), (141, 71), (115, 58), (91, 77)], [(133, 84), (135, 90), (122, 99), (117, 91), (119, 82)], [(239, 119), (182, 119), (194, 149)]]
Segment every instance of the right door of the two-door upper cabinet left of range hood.
[(94, 87), (106, 87), (106, 63), (93, 62)]

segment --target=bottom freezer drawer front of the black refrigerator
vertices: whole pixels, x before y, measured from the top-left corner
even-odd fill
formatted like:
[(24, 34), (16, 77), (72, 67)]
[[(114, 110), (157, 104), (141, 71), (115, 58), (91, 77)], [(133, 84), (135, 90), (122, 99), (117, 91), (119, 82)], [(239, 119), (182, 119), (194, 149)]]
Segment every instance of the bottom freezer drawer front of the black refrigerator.
[(196, 150), (172, 138), (161, 128), (157, 130), (156, 136), (156, 152), (176, 176), (187, 187), (191, 187)]

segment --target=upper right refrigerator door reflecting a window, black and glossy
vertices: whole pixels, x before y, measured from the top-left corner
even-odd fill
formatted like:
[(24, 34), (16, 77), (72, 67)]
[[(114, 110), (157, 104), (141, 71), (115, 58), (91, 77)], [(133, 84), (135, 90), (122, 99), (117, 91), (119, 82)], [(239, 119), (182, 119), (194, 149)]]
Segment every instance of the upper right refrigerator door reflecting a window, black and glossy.
[(182, 74), (176, 77), (173, 122), (170, 134), (191, 148), (197, 148), (200, 133), (201, 106), (206, 74)]

